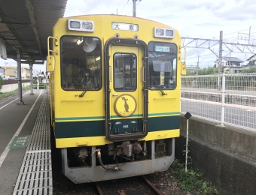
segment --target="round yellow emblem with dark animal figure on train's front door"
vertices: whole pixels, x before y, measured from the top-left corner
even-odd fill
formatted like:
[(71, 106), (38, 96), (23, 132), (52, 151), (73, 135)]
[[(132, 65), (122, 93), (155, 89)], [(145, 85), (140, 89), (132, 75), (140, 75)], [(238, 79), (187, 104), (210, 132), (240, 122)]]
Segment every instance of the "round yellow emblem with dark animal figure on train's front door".
[(133, 98), (132, 95), (123, 94), (120, 95), (117, 100), (114, 102), (114, 110), (117, 115), (128, 117), (133, 115), (136, 111), (137, 102), (136, 99)]

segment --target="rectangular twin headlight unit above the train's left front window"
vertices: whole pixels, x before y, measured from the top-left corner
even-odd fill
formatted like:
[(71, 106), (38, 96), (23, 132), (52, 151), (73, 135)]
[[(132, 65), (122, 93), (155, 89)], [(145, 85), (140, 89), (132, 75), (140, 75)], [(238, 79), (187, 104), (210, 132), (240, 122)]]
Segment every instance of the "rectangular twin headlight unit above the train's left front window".
[(89, 20), (68, 20), (68, 29), (70, 31), (94, 31), (94, 22)]

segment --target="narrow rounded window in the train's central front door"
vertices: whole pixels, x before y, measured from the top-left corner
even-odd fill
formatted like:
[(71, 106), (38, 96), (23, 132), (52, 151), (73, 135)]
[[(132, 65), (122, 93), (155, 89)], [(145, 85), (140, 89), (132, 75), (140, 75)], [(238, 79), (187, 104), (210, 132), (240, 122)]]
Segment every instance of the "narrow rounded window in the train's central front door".
[(114, 90), (135, 91), (137, 88), (136, 55), (133, 53), (114, 54)]

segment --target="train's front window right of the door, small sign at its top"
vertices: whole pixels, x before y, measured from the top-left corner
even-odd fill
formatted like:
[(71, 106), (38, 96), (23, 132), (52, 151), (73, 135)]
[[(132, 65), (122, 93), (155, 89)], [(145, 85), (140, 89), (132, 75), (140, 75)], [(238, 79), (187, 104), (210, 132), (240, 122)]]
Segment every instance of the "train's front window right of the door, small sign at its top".
[(174, 43), (148, 43), (149, 88), (175, 89), (177, 46)]

